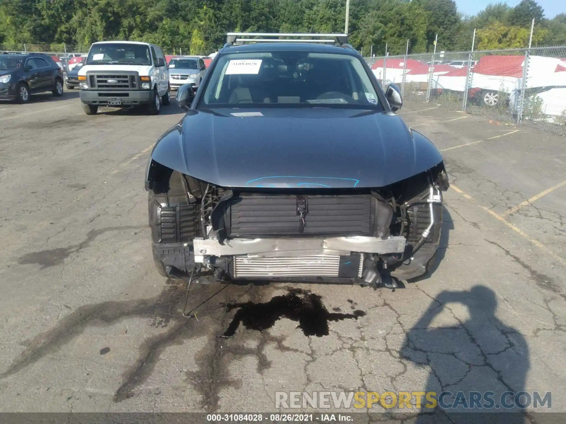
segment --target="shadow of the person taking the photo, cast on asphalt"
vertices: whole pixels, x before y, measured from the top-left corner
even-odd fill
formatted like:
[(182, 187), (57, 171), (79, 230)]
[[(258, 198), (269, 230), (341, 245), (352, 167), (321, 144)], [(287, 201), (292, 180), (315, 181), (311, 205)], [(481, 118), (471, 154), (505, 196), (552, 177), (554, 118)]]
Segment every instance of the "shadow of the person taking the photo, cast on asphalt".
[[(466, 306), (469, 318), (464, 320), (458, 318), (461, 313), (452, 313), (454, 304)], [(436, 392), (436, 399), (440, 392), (452, 393), (445, 395), (443, 402), (439, 401), (434, 410), (424, 407), (426, 402), (423, 398), (422, 412), (447, 413), (453, 422), (458, 423), (525, 422), (524, 409), (520, 406), (507, 408), (501, 403), (501, 395), (508, 391), (518, 393), (525, 390), (530, 367), (529, 347), (520, 332), (496, 317), (497, 305), (494, 291), (483, 285), (476, 285), (469, 291), (444, 291), (432, 300), (427, 311), (408, 332), (402, 355), (416, 364), (430, 366), (426, 392)], [(448, 314), (446, 318), (451, 324), (431, 327), (440, 313)], [(458, 392), (464, 395), (458, 395)], [(474, 395), (476, 400), (470, 399), (470, 392), (479, 392), (482, 398), (477, 400), (477, 395)], [(494, 392), (491, 408), (490, 401), (484, 397), (486, 392)], [(521, 397), (520, 403), (525, 403), (525, 400)], [(505, 403), (507, 406), (512, 404), (513, 396), (506, 397)], [(503, 412), (515, 413), (501, 416)], [(417, 423), (424, 422), (435, 422), (435, 418), (422, 414)]]

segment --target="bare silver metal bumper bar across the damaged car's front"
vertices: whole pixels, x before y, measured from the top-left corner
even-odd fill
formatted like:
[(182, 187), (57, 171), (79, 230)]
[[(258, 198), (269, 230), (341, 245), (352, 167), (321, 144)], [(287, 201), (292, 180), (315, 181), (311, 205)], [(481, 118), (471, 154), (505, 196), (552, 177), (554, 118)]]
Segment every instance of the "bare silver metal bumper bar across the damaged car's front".
[(360, 253), (401, 253), (405, 251), (406, 239), (392, 236), (379, 237), (332, 237), (328, 239), (230, 239), (224, 245), (215, 239), (194, 239), (195, 262), (204, 256), (281, 257), (312, 254), (333, 254), (347, 256)]

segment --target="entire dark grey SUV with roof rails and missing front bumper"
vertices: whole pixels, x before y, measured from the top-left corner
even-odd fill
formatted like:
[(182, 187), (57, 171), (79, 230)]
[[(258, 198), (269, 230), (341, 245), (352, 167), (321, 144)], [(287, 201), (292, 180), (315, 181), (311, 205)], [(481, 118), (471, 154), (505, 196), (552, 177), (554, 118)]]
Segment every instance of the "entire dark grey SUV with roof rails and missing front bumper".
[(438, 148), (394, 113), (400, 90), (380, 88), (345, 34), (237, 38), (258, 35), (228, 34), (196, 94), (179, 88), (187, 114), (153, 148), (157, 269), (374, 286), (427, 272), (448, 177)]

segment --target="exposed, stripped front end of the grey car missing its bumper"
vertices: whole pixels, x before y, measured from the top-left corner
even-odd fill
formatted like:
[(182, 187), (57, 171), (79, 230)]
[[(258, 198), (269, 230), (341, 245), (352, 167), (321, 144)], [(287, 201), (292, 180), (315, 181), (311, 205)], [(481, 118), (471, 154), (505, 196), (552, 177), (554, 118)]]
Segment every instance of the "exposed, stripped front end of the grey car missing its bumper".
[(385, 187), (301, 179), (219, 187), (151, 159), (145, 188), (158, 270), (174, 278), (206, 270), (218, 280), (362, 285), (427, 272), (449, 187), (443, 162)]

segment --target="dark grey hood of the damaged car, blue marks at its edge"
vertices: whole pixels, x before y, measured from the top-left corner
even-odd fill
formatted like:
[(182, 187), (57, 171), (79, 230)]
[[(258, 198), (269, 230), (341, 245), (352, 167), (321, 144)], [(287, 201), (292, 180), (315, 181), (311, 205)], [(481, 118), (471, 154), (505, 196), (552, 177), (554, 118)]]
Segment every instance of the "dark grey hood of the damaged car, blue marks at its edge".
[(384, 187), (438, 165), (396, 114), (331, 108), (189, 111), (152, 159), (223, 187)]

